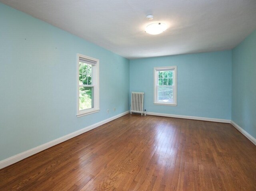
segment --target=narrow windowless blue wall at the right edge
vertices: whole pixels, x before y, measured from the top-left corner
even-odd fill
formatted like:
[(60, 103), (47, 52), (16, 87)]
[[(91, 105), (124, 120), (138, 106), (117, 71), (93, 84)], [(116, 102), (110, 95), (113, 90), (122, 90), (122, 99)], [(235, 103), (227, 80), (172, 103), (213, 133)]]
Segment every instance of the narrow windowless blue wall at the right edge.
[(232, 50), (232, 121), (256, 138), (256, 31)]

